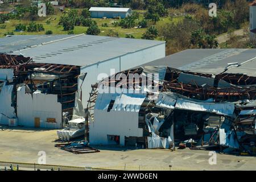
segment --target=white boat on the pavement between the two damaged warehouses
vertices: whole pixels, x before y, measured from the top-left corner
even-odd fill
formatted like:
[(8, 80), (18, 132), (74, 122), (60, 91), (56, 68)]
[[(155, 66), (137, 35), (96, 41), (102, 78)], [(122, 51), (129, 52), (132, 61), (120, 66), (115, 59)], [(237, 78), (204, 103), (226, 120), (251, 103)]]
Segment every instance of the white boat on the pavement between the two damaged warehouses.
[(60, 140), (69, 141), (70, 139), (81, 137), (85, 134), (85, 118), (77, 118), (68, 122), (68, 127), (57, 130)]

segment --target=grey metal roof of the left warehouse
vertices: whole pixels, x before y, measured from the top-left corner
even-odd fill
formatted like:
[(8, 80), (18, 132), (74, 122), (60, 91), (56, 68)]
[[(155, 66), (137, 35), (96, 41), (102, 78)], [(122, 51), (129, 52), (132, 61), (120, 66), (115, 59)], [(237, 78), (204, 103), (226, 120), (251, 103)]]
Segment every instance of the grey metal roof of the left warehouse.
[(163, 41), (93, 35), (16, 35), (0, 39), (0, 53), (36, 63), (85, 66), (146, 49)]

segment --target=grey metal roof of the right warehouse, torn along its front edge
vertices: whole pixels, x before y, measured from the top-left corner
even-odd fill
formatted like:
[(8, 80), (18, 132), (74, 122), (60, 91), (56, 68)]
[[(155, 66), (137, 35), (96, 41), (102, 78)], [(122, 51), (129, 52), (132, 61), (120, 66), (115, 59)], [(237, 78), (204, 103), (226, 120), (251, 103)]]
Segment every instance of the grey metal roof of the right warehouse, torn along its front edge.
[(230, 63), (234, 65), (226, 73), (256, 76), (256, 49), (187, 49), (142, 66), (163, 65), (183, 71), (217, 75), (224, 72)]

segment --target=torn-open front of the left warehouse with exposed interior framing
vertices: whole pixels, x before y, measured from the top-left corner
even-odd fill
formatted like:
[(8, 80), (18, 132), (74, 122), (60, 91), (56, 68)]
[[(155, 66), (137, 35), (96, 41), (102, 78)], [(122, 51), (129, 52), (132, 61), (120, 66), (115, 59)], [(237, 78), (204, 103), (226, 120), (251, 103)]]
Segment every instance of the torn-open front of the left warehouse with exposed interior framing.
[[(0, 124), (18, 118), (21, 126), (63, 127), (73, 113), (79, 74), (79, 66), (0, 54), (0, 101), (5, 107), (0, 106)], [(65, 118), (63, 113), (68, 113)]]

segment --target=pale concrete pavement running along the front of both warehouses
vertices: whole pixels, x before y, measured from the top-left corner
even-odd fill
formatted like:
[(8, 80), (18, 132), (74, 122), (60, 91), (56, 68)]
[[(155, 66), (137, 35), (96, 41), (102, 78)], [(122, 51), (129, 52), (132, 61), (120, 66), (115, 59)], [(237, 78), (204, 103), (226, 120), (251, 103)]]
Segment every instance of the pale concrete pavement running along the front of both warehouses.
[[(46, 153), (46, 164), (119, 170), (255, 170), (256, 157), (217, 154), (217, 164), (209, 164), (209, 151), (162, 150), (93, 146), (91, 154), (72, 154), (55, 147), (56, 130), (35, 130), (0, 126), (0, 161), (40, 162), (39, 151)], [(41, 152), (42, 154), (42, 152)], [(2, 166), (2, 165), (0, 165)]]

